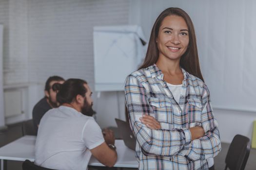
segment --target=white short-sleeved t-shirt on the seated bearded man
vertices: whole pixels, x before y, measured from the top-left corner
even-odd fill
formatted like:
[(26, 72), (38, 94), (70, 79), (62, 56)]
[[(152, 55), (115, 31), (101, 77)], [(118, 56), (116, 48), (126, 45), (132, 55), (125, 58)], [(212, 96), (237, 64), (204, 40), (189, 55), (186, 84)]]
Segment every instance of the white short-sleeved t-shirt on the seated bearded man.
[(57, 170), (86, 170), (90, 149), (103, 142), (101, 129), (92, 117), (60, 106), (40, 120), (35, 164)]

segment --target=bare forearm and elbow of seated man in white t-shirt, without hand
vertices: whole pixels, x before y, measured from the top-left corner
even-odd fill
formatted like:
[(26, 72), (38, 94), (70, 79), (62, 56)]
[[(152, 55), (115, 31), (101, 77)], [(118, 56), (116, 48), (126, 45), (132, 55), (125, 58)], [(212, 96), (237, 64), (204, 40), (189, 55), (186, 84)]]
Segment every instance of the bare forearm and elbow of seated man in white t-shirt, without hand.
[(117, 162), (117, 152), (108, 147), (106, 142), (103, 142), (98, 147), (90, 150), (92, 155), (103, 165), (113, 167)]

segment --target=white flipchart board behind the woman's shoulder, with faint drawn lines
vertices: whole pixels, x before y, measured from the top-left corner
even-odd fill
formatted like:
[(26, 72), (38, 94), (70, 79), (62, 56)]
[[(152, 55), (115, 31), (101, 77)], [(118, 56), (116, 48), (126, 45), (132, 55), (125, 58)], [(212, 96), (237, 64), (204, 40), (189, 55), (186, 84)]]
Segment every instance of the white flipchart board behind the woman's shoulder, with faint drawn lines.
[(96, 91), (123, 91), (125, 78), (145, 57), (146, 42), (137, 25), (94, 27)]

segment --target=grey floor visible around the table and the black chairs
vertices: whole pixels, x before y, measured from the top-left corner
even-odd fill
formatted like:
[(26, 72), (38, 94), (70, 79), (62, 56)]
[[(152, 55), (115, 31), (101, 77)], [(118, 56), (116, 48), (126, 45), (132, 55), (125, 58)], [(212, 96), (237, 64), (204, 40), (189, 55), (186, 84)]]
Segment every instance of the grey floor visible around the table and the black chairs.
[[(22, 136), (21, 123), (9, 125), (6, 131), (0, 132), (0, 147)], [(225, 157), (229, 148), (228, 143), (222, 143), (221, 152), (215, 157), (215, 170), (225, 169)], [(22, 162), (7, 161), (7, 170), (22, 170)], [(132, 170), (132, 169), (123, 169)], [(245, 170), (256, 170), (256, 149), (251, 149)]]

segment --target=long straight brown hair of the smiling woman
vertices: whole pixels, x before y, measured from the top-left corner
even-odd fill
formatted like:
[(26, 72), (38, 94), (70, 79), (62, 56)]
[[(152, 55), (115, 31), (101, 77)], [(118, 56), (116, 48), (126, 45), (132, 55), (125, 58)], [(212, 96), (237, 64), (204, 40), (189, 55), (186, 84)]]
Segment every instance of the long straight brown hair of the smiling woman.
[(189, 15), (180, 8), (167, 8), (158, 16), (151, 31), (146, 57), (143, 64), (138, 69), (147, 68), (158, 61), (159, 51), (156, 40), (158, 37), (159, 28), (163, 19), (171, 15), (183, 17), (188, 26), (189, 45), (187, 51), (180, 58), (180, 67), (184, 68), (190, 74), (204, 81), (199, 66), (197, 40), (194, 25)]

